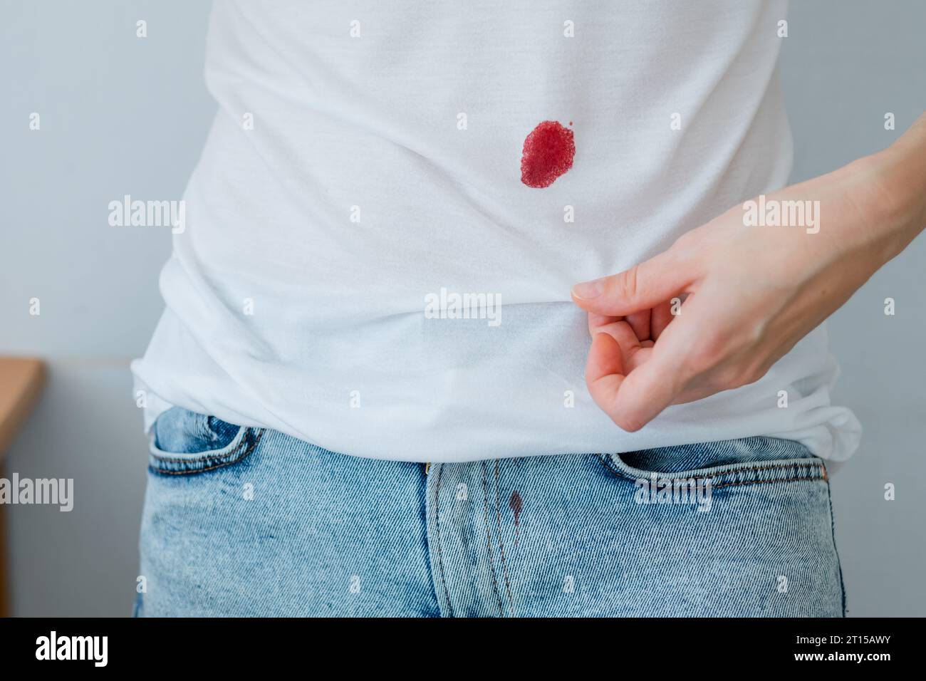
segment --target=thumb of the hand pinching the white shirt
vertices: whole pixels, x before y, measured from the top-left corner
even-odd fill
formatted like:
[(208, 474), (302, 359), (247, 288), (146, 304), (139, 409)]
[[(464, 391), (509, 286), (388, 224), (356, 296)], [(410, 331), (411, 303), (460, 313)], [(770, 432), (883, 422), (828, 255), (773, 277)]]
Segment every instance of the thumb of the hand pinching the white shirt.
[(655, 308), (680, 293), (693, 278), (669, 249), (630, 270), (574, 285), (572, 300), (588, 312), (624, 316)]

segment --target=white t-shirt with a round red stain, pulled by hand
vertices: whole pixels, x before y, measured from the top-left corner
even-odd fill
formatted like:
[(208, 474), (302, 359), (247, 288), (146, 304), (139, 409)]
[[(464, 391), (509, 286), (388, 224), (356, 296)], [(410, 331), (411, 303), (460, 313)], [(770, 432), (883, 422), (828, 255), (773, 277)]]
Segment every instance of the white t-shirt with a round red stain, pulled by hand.
[(822, 328), (630, 434), (588, 395), (569, 298), (787, 183), (785, 10), (217, 2), (219, 112), (133, 363), (148, 424), (179, 405), (395, 460), (747, 435), (845, 459)]

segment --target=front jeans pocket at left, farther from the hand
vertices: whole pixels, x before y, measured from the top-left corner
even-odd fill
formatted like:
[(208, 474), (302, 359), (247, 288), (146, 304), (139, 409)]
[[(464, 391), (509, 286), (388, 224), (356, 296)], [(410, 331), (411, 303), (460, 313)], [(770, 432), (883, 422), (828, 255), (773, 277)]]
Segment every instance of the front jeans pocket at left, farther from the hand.
[(174, 407), (157, 417), (148, 468), (162, 475), (191, 475), (225, 468), (248, 457), (264, 434), (214, 416)]

